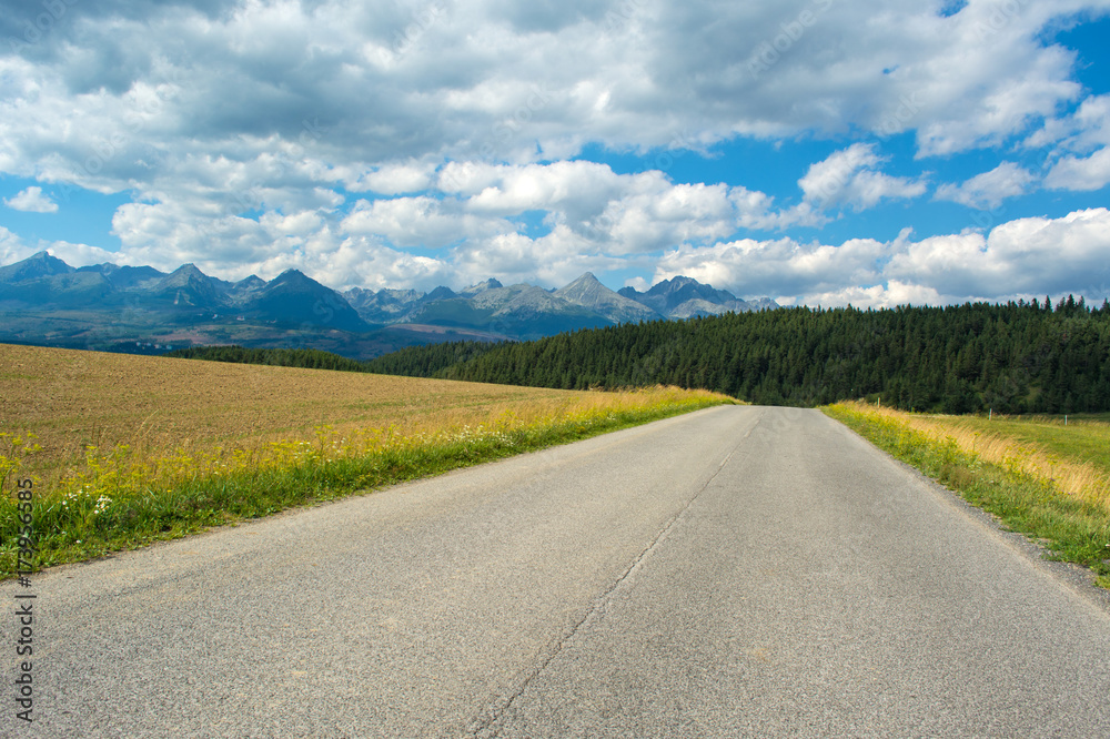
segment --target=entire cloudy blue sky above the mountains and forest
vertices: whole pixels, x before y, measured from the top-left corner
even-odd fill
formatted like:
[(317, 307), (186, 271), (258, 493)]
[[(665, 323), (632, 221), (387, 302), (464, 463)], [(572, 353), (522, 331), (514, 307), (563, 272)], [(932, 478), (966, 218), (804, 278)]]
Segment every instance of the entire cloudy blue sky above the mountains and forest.
[(0, 0), (0, 264), (1110, 296), (1110, 0)]

